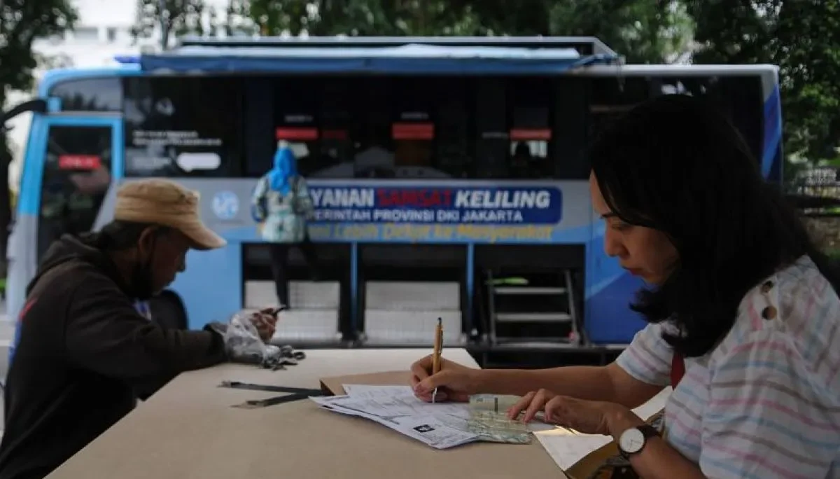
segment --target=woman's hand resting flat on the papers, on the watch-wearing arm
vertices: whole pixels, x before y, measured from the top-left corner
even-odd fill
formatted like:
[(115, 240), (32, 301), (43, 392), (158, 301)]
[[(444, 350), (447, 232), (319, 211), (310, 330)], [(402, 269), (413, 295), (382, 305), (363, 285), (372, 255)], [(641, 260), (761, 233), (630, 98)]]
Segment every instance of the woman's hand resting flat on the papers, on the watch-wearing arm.
[(555, 396), (543, 408), (545, 420), (583, 434), (612, 435), (616, 418), (632, 411), (621, 404), (585, 401), (568, 396)]

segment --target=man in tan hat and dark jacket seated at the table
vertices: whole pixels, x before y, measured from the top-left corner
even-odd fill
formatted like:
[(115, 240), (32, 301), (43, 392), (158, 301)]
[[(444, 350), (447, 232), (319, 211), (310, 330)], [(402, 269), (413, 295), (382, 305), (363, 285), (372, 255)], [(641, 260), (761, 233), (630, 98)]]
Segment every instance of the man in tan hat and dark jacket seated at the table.
[[(164, 329), (134, 308), (184, 271), (188, 250), (225, 245), (202, 224), (198, 204), (196, 192), (175, 182), (129, 182), (117, 193), (113, 222), (64, 235), (47, 250), (27, 287), (8, 372), (0, 479), (46, 476), (138, 397), (227, 359), (214, 329)], [(252, 320), (270, 339), (274, 320), (260, 313)]]

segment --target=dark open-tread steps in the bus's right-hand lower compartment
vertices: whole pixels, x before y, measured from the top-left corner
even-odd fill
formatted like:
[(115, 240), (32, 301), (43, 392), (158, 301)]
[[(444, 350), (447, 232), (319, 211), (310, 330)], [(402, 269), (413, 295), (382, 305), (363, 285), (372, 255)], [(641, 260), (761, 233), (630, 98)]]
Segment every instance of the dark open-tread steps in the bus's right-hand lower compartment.
[[(558, 276), (554, 285), (531, 286), (527, 278), (494, 277), (486, 271), (492, 344), (581, 343), (571, 271)], [(545, 308), (549, 304), (557, 309)]]

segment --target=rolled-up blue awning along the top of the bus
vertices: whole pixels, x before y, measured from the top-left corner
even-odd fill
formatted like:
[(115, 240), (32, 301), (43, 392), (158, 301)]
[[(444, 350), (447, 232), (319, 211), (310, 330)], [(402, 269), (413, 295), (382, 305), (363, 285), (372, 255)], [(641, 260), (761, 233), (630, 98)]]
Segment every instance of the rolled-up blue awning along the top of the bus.
[(571, 48), (442, 46), (384, 47), (181, 46), (141, 55), (151, 72), (557, 74), (618, 61), (616, 55), (580, 55)]

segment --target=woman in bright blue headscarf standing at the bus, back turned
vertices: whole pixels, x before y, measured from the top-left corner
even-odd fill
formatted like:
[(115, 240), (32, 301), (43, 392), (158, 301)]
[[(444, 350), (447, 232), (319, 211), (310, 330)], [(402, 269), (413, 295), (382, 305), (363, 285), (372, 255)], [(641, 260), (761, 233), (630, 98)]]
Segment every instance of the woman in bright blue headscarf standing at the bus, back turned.
[(301, 251), (312, 280), (320, 279), (320, 274), (315, 245), (307, 233), (307, 222), (313, 212), (312, 198), (306, 180), (297, 173), (297, 158), (286, 142), (278, 143), (274, 167), (257, 182), (251, 203), (254, 219), (260, 224), (260, 235), (269, 244), (277, 301), (291, 308), (288, 278), (291, 247)]

